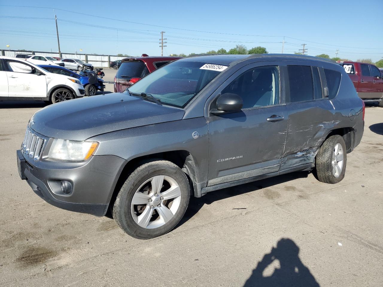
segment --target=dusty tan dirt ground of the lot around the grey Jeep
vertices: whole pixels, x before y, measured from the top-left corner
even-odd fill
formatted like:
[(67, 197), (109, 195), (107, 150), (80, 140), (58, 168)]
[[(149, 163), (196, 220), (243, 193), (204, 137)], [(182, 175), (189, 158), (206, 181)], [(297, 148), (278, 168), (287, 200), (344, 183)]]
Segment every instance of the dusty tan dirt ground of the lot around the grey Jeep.
[(383, 285), (382, 108), (366, 108), (339, 184), (298, 172), (211, 192), (169, 234), (137, 240), (19, 178), (16, 149), (44, 106), (0, 102), (0, 286)]

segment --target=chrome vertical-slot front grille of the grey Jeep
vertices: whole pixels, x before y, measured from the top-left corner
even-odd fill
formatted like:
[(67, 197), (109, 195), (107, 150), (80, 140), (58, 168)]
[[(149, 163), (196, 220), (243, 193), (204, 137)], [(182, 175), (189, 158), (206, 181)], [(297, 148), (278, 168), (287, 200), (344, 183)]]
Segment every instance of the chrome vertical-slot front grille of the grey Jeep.
[(25, 157), (38, 161), (43, 153), (44, 144), (46, 142), (47, 139), (45, 137), (28, 127), (25, 132), (23, 144), (21, 145), (21, 151)]

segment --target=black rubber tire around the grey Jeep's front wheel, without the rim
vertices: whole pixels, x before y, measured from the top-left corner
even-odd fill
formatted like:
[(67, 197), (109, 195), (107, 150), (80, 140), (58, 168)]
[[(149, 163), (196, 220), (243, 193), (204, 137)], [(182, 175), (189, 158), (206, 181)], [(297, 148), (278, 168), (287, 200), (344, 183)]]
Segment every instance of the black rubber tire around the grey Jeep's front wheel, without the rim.
[[(159, 175), (169, 176), (177, 182), (181, 193), (180, 203), (177, 211), (168, 222), (157, 228), (144, 228), (138, 225), (138, 223), (136, 223), (134, 220), (131, 203), (134, 194), (136, 194), (136, 191), (140, 188), (140, 186), (148, 179)], [(163, 192), (165, 186), (162, 185), (162, 188)], [(190, 186), (185, 173), (183, 173), (183, 171), (177, 165), (171, 163), (170, 161), (154, 159), (142, 163), (142, 165), (136, 168), (136, 170), (134, 170), (133, 173), (129, 175), (128, 179), (126, 179), (125, 183), (118, 192), (116, 201), (114, 203), (113, 218), (116, 220), (119, 227), (124, 230), (124, 232), (128, 233), (134, 238), (154, 238), (170, 232), (170, 230), (172, 230), (178, 224), (178, 222), (180, 222), (188, 207), (189, 199)], [(146, 205), (144, 209), (147, 207), (149, 207), (149, 205)], [(158, 211), (156, 212), (158, 214)], [(151, 219), (155, 217), (156, 212), (151, 215)]]

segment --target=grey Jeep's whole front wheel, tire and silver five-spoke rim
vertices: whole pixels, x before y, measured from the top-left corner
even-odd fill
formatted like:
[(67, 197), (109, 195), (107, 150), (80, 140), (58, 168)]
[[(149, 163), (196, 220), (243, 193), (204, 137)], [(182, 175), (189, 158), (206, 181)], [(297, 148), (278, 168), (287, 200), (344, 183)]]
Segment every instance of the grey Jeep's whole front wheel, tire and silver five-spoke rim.
[(113, 206), (113, 218), (135, 238), (154, 238), (178, 224), (189, 199), (189, 181), (182, 170), (170, 161), (152, 160), (125, 181)]

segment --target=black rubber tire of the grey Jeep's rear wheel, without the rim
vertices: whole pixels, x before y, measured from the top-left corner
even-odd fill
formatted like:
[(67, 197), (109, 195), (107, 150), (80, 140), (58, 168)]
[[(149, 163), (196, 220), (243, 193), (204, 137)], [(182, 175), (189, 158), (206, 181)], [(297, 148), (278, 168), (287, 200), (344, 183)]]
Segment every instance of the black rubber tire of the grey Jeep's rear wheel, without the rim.
[[(333, 164), (334, 161), (336, 165), (338, 165), (337, 159), (334, 157), (334, 149), (337, 144), (340, 144), (343, 152), (343, 162), (342, 168), (339, 169), (337, 176), (334, 175)], [(346, 144), (344, 142), (343, 137), (340, 135), (332, 135), (328, 137), (322, 146), (319, 148), (319, 151), (315, 158), (316, 161), (316, 173), (319, 181), (323, 183), (339, 183), (344, 178), (344, 174), (346, 171), (346, 163), (347, 163), (347, 153), (346, 153)]]

